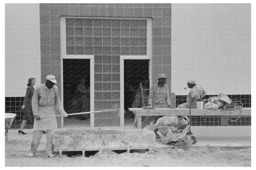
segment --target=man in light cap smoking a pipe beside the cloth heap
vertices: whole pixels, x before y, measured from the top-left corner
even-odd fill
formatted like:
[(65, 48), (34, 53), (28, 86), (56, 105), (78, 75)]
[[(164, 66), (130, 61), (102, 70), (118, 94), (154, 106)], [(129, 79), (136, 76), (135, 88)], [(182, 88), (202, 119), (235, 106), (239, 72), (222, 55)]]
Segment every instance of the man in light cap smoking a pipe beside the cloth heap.
[(196, 108), (196, 101), (201, 101), (202, 97), (206, 95), (206, 90), (202, 88), (201, 85), (197, 85), (196, 81), (193, 79), (187, 80), (188, 88), (190, 88), (190, 93), (188, 94), (185, 103), (180, 104), (177, 108)]

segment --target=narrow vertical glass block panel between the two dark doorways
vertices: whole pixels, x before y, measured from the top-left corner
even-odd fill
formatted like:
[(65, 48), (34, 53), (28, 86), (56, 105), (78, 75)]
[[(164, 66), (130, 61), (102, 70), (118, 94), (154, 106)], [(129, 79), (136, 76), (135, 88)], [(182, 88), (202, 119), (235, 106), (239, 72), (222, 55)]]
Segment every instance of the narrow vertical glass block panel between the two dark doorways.
[(120, 107), (118, 55), (95, 55), (95, 110)]

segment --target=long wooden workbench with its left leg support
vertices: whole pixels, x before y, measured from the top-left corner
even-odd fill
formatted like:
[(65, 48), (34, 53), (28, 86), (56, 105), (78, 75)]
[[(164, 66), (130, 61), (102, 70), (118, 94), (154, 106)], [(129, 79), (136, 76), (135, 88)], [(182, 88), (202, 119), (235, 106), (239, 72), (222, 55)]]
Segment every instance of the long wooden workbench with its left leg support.
[[(189, 116), (190, 109), (169, 109), (169, 108), (156, 108), (156, 109), (142, 109), (142, 108), (129, 108), (131, 112), (135, 115), (135, 122), (137, 123), (137, 128), (145, 128), (148, 123), (152, 122), (154, 118), (158, 116), (166, 115), (176, 115), (176, 116)], [(191, 116), (225, 116), (225, 111), (223, 109), (212, 110), (212, 109), (191, 109)], [(226, 110), (226, 115), (228, 116), (239, 116), (240, 109)], [(242, 108), (242, 116), (251, 115), (250, 108)], [(142, 117), (148, 117), (142, 122)]]

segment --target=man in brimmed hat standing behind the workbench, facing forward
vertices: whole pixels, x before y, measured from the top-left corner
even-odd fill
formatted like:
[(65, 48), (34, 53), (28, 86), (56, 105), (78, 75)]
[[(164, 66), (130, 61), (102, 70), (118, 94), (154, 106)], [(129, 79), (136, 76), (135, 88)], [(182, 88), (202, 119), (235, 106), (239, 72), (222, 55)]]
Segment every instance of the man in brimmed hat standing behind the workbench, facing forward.
[[(158, 74), (158, 83), (156, 85), (156, 92), (155, 92), (155, 103), (154, 107), (157, 108), (171, 108), (170, 105), (170, 96), (169, 96), (169, 88), (166, 84), (166, 75), (165, 74)], [(150, 91), (150, 98), (148, 99), (148, 104), (152, 104), (152, 91)]]

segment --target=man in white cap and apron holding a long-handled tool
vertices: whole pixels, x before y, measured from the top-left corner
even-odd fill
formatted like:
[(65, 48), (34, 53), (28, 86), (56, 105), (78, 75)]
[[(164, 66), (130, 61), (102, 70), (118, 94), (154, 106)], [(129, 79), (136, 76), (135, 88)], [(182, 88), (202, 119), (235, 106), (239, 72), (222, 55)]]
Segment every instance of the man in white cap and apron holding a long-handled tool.
[(67, 117), (62, 103), (60, 102), (58, 87), (54, 85), (55, 83), (57, 83), (55, 76), (47, 75), (46, 83), (40, 85), (36, 88), (36, 90), (34, 90), (34, 95), (32, 98), (34, 131), (31, 142), (31, 150), (28, 157), (33, 157), (36, 154), (44, 129), (47, 131), (46, 156), (50, 158), (55, 157), (52, 150), (52, 145), (54, 129), (57, 128), (57, 120), (56, 117), (47, 116), (54, 116), (56, 109), (57, 112), (60, 112), (62, 117)]

